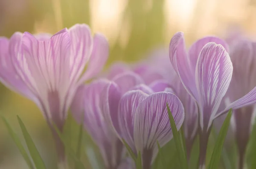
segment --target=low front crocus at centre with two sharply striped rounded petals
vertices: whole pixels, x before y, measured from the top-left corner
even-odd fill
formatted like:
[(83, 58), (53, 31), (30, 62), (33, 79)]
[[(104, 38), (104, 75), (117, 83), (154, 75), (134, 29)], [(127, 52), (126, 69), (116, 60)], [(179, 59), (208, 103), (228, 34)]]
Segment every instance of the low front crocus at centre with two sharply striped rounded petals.
[[(183, 123), (184, 109), (180, 100), (167, 92), (147, 94), (141, 90), (131, 90), (121, 95), (114, 82), (107, 87), (102, 98), (105, 100), (103, 103), (108, 103), (103, 106), (105, 119), (135, 155), (141, 152), (143, 169), (150, 169), (158, 152), (157, 140), (162, 147), (172, 139), (166, 103), (169, 104), (177, 129)], [(116, 100), (119, 100), (118, 106)]]

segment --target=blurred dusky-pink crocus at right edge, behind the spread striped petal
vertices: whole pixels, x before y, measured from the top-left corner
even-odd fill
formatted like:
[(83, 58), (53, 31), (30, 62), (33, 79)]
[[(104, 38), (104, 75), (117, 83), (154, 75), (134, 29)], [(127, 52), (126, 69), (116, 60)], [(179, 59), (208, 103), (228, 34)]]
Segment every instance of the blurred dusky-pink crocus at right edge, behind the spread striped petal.
[[(233, 63), (233, 77), (228, 89), (228, 98), (231, 102), (246, 95), (256, 86), (256, 43), (240, 39), (230, 46), (230, 57)], [(251, 126), (254, 123), (255, 105), (243, 107), (234, 111), (231, 124), (235, 128), (236, 141), (239, 150), (239, 169), (244, 166), (244, 155), (249, 140)]]

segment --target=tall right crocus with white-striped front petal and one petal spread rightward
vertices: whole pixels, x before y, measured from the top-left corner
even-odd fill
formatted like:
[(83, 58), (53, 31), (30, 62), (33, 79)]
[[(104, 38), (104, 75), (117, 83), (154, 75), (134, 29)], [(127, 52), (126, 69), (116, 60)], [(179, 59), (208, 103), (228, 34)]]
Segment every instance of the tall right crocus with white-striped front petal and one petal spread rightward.
[(226, 43), (217, 37), (204, 37), (185, 49), (183, 33), (172, 37), (169, 54), (183, 86), (196, 100), (199, 109), (200, 168), (205, 168), (207, 142), (213, 120), (229, 109), (256, 102), (256, 88), (218, 111), (230, 85), (233, 66)]

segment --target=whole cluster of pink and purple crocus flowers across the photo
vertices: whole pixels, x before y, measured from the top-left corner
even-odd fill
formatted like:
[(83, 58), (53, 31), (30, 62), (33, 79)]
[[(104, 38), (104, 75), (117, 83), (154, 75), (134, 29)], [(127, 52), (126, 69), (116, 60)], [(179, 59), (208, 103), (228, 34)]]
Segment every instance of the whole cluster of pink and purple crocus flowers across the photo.
[(173, 137), (168, 104), (177, 129), (183, 125), (188, 158), (199, 135), (200, 169), (213, 120), (233, 109), (242, 168), (256, 103), (253, 46), (246, 39), (227, 45), (211, 36), (186, 52), (178, 32), (169, 52), (154, 52), (139, 64), (116, 63), (104, 78), (84, 84), (108, 58), (103, 35), (92, 37), (89, 27), (79, 24), (52, 36), (16, 32), (0, 38), (0, 80), (38, 105), (55, 137), (59, 162), (65, 152), (53, 124), (62, 131), (71, 106), (99, 146), (106, 169), (135, 169), (124, 142), (135, 156), (140, 153), (143, 169), (150, 169), (157, 143), (163, 147)]

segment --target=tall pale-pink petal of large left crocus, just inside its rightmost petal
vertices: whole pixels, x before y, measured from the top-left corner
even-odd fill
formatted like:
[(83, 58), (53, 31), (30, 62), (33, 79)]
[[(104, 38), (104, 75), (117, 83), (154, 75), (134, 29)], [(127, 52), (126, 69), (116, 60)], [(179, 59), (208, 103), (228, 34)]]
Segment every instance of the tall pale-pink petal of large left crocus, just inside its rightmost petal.
[[(93, 38), (89, 26), (76, 24), (69, 30), (70, 35), (70, 80), (76, 83), (85, 64), (91, 57), (93, 50)], [(79, 83), (80, 85), (81, 83)]]

